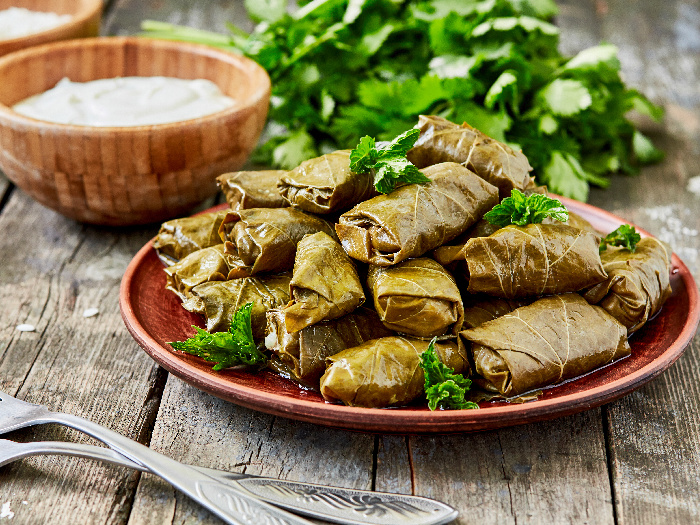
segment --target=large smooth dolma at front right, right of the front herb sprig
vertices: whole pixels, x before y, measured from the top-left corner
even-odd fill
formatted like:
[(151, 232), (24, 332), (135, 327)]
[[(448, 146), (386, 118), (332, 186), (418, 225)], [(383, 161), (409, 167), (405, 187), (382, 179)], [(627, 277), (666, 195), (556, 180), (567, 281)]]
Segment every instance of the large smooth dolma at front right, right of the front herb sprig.
[(460, 332), (474, 380), (505, 397), (586, 374), (630, 354), (625, 327), (575, 293), (544, 297)]

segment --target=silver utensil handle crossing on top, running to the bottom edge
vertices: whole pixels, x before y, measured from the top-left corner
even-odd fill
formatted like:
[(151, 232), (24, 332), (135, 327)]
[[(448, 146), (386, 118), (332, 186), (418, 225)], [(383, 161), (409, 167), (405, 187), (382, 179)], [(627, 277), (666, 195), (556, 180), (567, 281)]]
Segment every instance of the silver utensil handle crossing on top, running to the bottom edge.
[(230, 484), (170, 459), (113, 430), (71, 414), (52, 412), (47, 423), (60, 423), (102, 441), (122, 456), (157, 474), (231, 525), (313, 525)]

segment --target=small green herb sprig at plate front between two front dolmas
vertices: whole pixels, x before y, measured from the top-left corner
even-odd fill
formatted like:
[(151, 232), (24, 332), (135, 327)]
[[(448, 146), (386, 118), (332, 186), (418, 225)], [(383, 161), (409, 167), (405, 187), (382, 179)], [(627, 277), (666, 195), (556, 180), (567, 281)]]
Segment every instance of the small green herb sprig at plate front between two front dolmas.
[(440, 361), (435, 351), (436, 339), (430, 341), (430, 346), (420, 356), (420, 366), (425, 374), (425, 397), (428, 398), (428, 407), (430, 410), (435, 410), (438, 406), (456, 410), (479, 408), (476, 403), (464, 399), (471, 387), (471, 379), (463, 377), (462, 374), (455, 374), (454, 370)]

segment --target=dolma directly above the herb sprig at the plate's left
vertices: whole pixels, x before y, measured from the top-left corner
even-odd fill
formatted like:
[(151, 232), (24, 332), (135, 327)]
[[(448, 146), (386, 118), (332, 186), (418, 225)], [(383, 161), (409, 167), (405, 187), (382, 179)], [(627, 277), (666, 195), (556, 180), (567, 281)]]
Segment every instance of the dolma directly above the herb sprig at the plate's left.
[(208, 332), (225, 332), (231, 317), (240, 307), (253, 303), (251, 325), (256, 341), (265, 338), (265, 312), (289, 302), (289, 273), (264, 277), (242, 277), (228, 281), (208, 282), (192, 288), (182, 306), (204, 315)]

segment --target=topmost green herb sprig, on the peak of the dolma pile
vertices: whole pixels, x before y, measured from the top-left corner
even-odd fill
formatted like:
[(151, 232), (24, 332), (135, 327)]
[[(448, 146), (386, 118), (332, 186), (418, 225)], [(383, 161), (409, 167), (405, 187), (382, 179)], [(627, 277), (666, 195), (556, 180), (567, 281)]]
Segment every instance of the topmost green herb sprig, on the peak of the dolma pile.
[(400, 182), (424, 184), (430, 179), (423, 175), (406, 153), (418, 140), (420, 131), (409, 129), (389, 144), (377, 147), (374, 137), (364, 136), (350, 152), (350, 169), (355, 173), (372, 173), (374, 187), (379, 193), (390, 193)]

